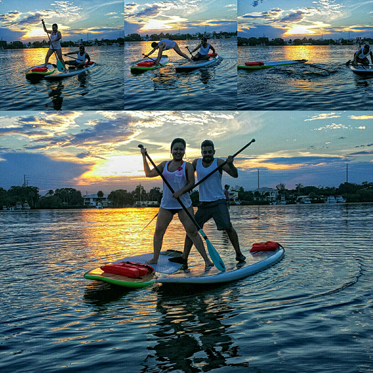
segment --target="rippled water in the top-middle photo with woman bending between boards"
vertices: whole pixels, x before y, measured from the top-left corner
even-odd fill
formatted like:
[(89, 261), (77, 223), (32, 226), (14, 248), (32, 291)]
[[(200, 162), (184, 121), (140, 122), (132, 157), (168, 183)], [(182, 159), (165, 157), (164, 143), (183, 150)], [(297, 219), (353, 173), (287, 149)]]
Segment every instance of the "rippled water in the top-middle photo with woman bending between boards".
[[(198, 40), (177, 41), (181, 51), (192, 51)], [(170, 62), (159, 69), (131, 73), (131, 66), (152, 50), (151, 42), (124, 44), (125, 110), (232, 110), (237, 109), (237, 39), (212, 40), (222, 57), (214, 66), (176, 72), (187, 60), (166, 51)], [(190, 48), (192, 47), (192, 48)], [(157, 56), (156, 52), (152, 56)], [(152, 57), (151, 56), (151, 57)]]

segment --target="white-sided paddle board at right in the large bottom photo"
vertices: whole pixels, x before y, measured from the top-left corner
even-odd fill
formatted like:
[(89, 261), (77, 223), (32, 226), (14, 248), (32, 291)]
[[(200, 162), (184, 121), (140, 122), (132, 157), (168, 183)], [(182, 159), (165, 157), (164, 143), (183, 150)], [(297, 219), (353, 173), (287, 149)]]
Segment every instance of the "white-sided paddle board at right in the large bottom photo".
[(259, 271), (263, 271), (277, 263), (283, 256), (285, 250), (279, 246), (275, 251), (259, 251), (246, 255), (246, 261), (237, 264), (233, 259), (225, 262), (225, 271), (219, 271), (212, 267), (204, 271), (203, 266), (191, 267), (186, 271), (179, 271), (166, 277), (157, 278), (155, 281), (161, 284), (220, 284), (239, 280)]

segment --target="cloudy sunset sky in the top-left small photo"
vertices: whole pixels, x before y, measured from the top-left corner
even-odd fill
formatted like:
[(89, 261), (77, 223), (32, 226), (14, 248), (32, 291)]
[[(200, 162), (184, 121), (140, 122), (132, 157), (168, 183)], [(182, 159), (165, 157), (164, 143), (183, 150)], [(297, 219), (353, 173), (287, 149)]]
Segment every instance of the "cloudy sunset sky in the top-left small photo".
[(122, 0), (0, 0), (0, 36), (8, 43), (48, 40), (41, 19), (48, 30), (57, 23), (65, 41), (124, 35)]

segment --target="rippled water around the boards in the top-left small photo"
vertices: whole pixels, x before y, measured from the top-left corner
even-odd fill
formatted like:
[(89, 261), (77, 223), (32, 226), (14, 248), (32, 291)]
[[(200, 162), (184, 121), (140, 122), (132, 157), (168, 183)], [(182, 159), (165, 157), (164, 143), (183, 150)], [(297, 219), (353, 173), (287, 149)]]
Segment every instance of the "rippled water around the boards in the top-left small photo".
[[(63, 48), (71, 51), (77, 48)], [(0, 50), (0, 110), (123, 110), (123, 47), (86, 51), (97, 67), (62, 80), (30, 81), (25, 72), (44, 63), (47, 49)], [(49, 61), (56, 63), (54, 54)]]

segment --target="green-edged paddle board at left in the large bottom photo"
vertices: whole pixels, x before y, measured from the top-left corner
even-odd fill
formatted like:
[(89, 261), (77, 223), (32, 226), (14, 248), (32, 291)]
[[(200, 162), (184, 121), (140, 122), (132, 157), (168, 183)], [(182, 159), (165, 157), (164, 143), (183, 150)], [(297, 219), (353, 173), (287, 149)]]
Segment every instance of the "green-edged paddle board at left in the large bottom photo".
[[(84, 277), (88, 280), (103, 281), (109, 284), (119, 285), (126, 288), (143, 288), (145, 286), (152, 285), (156, 279), (162, 278), (171, 273), (179, 271), (183, 267), (183, 264), (172, 263), (169, 261), (169, 258), (181, 256), (181, 254), (182, 253), (180, 251), (175, 250), (167, 250), (165, 252), (160, 253), (158, 264), (151, 264), (151, 266), (154, 268), (154, 272), (149, 273), (142, 278), (130, 278), (120, 274), (106, 273), (102, 271), (100, 267), (86, 272), (84, 274)], [(147, 260), (150, 260), (152, 258), (153, 253), (139, 254), (136, 256), (127, 256), (123, 259), (116, 260), (113, 263), (115, 264), (129, 261), (145, 264)]]

